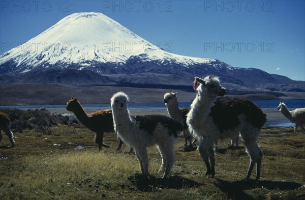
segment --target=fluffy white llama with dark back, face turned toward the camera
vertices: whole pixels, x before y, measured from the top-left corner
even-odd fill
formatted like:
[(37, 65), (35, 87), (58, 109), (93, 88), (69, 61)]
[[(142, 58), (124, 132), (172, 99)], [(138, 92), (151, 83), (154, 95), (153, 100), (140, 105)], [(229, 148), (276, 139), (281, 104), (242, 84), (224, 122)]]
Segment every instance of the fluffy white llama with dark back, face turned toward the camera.
[(131, 117), (127, 102), (128, 96), (123, 92), (111, 98), (114, 130), (127, 146), (134, 148), (143, 176), (148, 175), (147, 147), (157, 145), (162, 157), (159, 173), (164, 172), (162, 178), (166, 178), (175, 161), (175, 142), (182, 125), (166, 116)]

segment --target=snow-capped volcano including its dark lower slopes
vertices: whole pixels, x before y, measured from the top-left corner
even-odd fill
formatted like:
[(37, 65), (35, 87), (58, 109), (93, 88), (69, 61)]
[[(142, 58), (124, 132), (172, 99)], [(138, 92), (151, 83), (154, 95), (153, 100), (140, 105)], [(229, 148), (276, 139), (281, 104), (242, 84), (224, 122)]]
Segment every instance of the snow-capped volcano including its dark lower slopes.
[[(44, 72), (40, 73), (41, 70)], [(69, 73), (59, 77), (56, 70)], [(86, 83), (86, 78), (71, 81), (81, 74), (70, 73), (71, 70), (93, 72), (86, 72)], [(103, 75), (102, 81), (92, 80), (101, 79), (94, 72)], [(2, 83), (37, 83), (42, 81), (41, 74), (49, 76), (44, 78), (49, 82), (60, 80), (55, 83), (66, 81), (66, 84), (100, 84), (108, 77), (110, 82), (127, 84), (191, 85), (195, 75), (220, 76), (222, 81), (236, 85), (236, 90), (248, 83), (294, 83), (287, 77), (259, 69), (234, 68), (216, 59), (166, 52), (97, 12), (71, 14), (35, 38), (0, 55)], [(77, 75), (67, 78), (68, 74)], [(65, 77), (67, 80), (63, 80)]]

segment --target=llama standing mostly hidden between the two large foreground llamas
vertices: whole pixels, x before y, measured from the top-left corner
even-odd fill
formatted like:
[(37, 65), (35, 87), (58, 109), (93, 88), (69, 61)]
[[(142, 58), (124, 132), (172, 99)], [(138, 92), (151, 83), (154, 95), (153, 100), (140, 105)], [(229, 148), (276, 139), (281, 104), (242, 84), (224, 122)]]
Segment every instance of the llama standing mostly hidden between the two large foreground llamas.
[(189, 146), (192, 147), (192, 136), (187, 125), (187, 114), (190, 108), (179, 108), (177, 93), (165, 93), (163, 102), (165, 103), (169, 116), (184, 126), (182, 133), (186, 140), (185, 146), (188, 146), (189, 140)]

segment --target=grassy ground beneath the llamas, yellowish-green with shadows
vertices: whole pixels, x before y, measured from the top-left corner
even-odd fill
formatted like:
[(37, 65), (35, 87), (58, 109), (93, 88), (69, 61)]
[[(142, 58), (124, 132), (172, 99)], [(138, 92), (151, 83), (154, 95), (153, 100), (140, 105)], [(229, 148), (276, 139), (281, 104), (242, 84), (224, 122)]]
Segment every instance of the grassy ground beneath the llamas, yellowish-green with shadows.
[[(47, 134), (46, 134), (47, 133)], [(105, 134), (110, 149), (98, 151), (93, 133), (80, 125), (52, 126), (42, 134), (15, 133), (16, 147), (4, 136), (0, 146), (0, 199), (305, 199), (305, 135), (293, 128), (263, 129), (262, 174), (240, 181), (249, 157), (229, 141), (216, 153), (216, 176), (204, 177), (195, 149), (178, 138), (171, 176), (162, 180), (157, 148), (149, 149), (149, 179), (139, 175), (135, 155), (126, 146), (116, 152), (114, 133)], [(282, 134), (285, 133), (285, 134)]]

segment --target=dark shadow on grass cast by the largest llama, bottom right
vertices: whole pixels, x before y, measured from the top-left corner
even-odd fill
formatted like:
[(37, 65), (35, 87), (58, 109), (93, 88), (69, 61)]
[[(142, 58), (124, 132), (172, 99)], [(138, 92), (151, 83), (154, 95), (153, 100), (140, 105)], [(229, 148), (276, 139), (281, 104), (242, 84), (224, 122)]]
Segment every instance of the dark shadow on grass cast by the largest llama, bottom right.
[(244, 192), (243, 190), (266, 188), (269, 190), (294, 190), (301, 186), (301, 184), (294, 182), (282, 182), (282, 181), (234, 181), (227, 182), (221, 179), (216, 179), (219, 183), (215, 184), (220, 190), (222, 190), (229, 198), (233, 199), (254, 199), (252, 196)]

